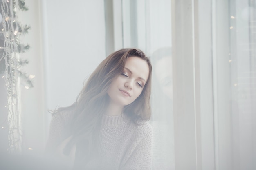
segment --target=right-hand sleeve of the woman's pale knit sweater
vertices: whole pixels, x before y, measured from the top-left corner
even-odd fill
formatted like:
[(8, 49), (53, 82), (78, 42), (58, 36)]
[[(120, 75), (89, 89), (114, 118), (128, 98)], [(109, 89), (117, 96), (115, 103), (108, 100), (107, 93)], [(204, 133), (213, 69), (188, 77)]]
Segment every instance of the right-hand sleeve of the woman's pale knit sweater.
[(146, 126), (142, 139), (132, 151), (129, 159), (120, 170), (151, 170), (152, 169), (152, 128)]

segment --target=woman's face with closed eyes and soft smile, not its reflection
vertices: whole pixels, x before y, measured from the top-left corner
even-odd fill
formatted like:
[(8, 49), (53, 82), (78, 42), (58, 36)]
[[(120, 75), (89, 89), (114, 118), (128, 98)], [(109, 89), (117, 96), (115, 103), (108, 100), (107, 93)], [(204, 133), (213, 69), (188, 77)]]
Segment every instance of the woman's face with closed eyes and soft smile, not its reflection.
[(110, 85), (110, 104), (126, 106), (141, 94), (148, 80), (149, 66), (139, 57), (129, 57), (124, 70)]

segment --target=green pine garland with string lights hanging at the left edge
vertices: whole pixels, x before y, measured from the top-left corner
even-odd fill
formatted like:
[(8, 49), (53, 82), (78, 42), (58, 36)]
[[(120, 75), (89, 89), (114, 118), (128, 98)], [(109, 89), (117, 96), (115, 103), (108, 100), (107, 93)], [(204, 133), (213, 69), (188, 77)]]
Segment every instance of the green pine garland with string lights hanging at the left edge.
[[(24, 0), (0, 0), (0, 75), (5, 79), (8, 108), (8, 152), (19, 152), (22, 148), (22, 122), (20, 113), (20, 81), (25, 88), (33, 87), (31, 79), (21, 68), (28, 60), (21, 60), (19, 53), (29, 50), (29, 44), (20, 42), (20, 35), (27, 34), (30, 26), (18, 22), (16, 10), (27, 11)], [(2, 31), (1, 31), (2, 30)], [(2, 76), (3, 75), (3, 76)], [(4, 113), (2, 113), (4, 114)]]

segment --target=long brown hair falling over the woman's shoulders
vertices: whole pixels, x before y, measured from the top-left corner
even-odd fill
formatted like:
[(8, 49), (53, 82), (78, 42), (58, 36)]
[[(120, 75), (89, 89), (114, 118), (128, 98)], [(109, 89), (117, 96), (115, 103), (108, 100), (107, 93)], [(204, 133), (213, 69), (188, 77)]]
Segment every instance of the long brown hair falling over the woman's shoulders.
[[(76, 144), (77, 147), (80, 146), (80, 156), (88, 159), (97, 152), (95, 152), (97, 148), (100, 148), (101, 119), (109, 102), (108, 88), (111, 82), (123, 72), (126, 60), (131, 56), (140, 57), (148, 63), (149, 75), (141, 95), (131, 104), (124, 106), (123, 112), (135, 123), (141, 119), (146, 121), (150, 119), (152, 72), (150, 60), (139, 49), (121, 49), (110, 54), (99, 64), (79, 93), (76, 102), (70, 106), (74, 107), (74, 118), (70, 123), (72, 140), (67, 144), (64, 152), (68, 153), (71, 146)], [(60, 108), (58, 111), (63, 109), (68, 108)]]

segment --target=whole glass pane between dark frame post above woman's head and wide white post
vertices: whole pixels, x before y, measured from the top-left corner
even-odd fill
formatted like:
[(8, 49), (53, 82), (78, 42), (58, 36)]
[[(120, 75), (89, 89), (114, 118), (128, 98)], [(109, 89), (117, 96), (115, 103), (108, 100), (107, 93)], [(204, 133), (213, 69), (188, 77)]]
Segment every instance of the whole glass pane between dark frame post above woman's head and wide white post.
[(171, 1), (123, 0), (124, 47), (146, 52), (153, 66), (153, 170), (174, 169)]

